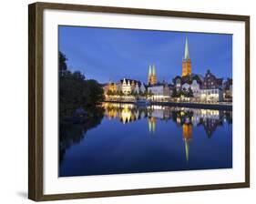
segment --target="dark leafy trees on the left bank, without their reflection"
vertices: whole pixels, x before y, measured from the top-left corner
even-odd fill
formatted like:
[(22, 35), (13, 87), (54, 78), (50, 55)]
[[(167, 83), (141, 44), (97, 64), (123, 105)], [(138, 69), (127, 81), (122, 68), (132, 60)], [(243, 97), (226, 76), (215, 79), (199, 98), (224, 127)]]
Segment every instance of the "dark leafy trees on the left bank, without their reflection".
[(77, 108), (97, 109), (104, 100), (101, 85), (94, 79), (86, 79), (80, 71), (68, 70), (67, 56), (62, 52), (58, 53), (58, 62), (60, 117), (71, 116)]

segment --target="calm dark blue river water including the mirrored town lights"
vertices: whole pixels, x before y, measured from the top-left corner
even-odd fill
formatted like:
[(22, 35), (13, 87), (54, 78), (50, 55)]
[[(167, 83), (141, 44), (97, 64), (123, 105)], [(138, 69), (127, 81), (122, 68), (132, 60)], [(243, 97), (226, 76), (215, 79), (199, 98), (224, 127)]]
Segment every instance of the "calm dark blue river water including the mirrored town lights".
[(232, 112), (104, 103), (60, 126), (59, 176), (232, 168)]

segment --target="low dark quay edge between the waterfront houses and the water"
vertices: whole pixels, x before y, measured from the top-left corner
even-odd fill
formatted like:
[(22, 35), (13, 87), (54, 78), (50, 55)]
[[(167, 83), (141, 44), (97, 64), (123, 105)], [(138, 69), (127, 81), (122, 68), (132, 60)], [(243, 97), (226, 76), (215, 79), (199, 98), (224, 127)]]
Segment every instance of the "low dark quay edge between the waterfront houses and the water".
[[(122, 104), (136, 104), (134, 101), (105, 101), (108, 103), (122, 103)], [(169, 107), (190, 107), (200, 109), (218, 109), (218, 110), (232, 110), (231, 104), (206, 104), (206, 103), (187, 103), (187, 102), (158, 102), (150, 101), (150, 105), (155, 106), (169, 106)], [(150, 106), (149, 105), (149, 106)]]

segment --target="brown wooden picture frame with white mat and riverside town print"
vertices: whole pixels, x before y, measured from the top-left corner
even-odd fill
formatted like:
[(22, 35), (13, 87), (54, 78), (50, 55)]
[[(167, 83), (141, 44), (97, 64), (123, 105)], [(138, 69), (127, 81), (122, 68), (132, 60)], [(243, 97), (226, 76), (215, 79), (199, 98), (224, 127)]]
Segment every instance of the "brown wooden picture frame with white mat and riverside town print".
[(250, 186), (250, 17), (29, 5), (29, 199)]

